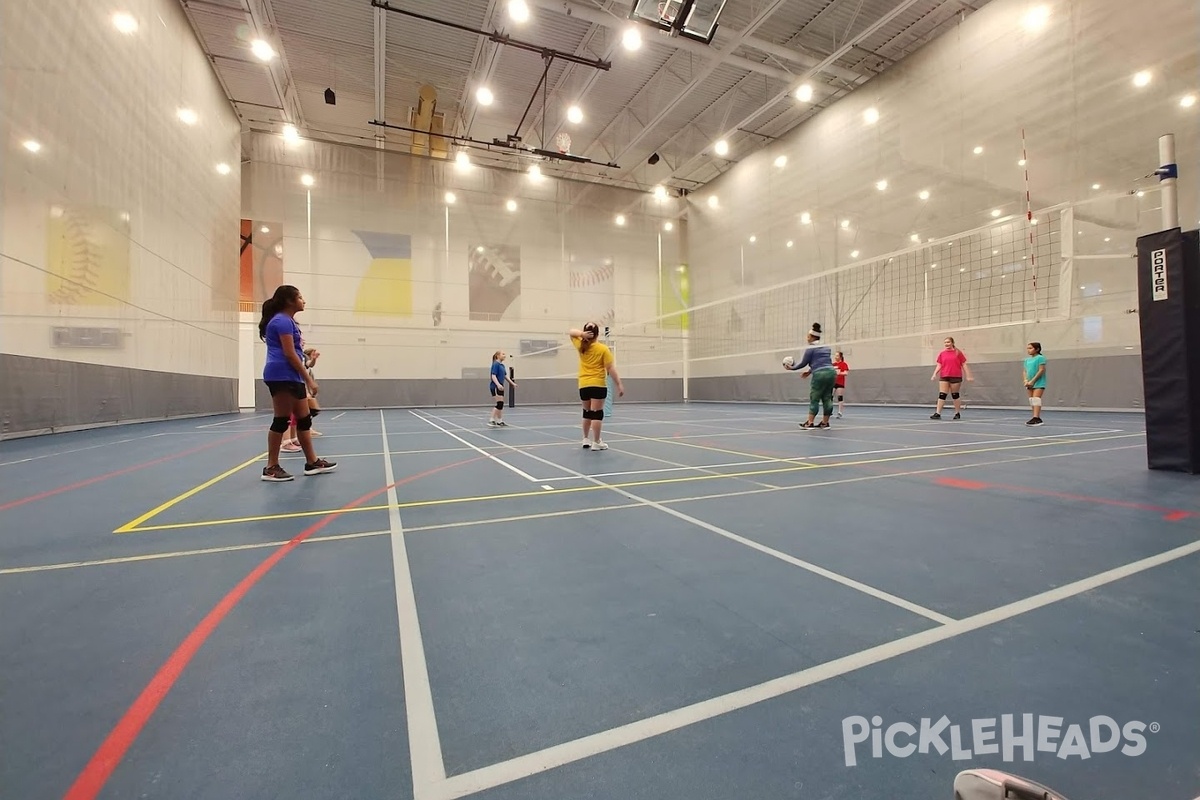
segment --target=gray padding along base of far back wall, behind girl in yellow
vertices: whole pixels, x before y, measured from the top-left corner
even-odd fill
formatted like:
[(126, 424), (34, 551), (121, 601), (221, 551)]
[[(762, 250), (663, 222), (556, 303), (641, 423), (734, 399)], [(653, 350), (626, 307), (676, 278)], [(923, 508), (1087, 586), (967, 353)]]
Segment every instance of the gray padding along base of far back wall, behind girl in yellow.
[[(322, 408), (436, 408), (488, 404), (487, 379), (317, 379)], [(625, 401), (638, 403), (678, 403), (683, 401), (680, 378), (630, 378)], [(517, 379), (516, 404), (541, 405), (580, 402), (578, 383), (574, 378)], [(505, 405), (508, 403), (505, 402)], [(271, 395), (262, 380), (254, 383), (254, 407), (271, 408)]]

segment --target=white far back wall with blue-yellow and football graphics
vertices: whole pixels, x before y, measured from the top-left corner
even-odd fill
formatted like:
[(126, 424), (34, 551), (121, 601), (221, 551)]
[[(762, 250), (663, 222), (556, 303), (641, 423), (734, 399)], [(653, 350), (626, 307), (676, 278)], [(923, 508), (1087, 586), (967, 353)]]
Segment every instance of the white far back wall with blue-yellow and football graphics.
[[(678, 342), (668, 366), (646, 366), (664, 360), (664, 337), (632, 326), (658, 314), (660, 227), (678, 200), (551, 178), (533, 182), (523, 172), (463, 173), (454, 163), (344, 145), (288, 145), (274, 134), (251, 137), (248, 152), (244, 213), (256, 229), (282, 227), (283, 279), (307, 301), (298, 323), (322, 353), (319, 379), (461, 378), (463, 369), (486, 371), (496, 350), (520, 354), (521, 339), (554, 339), (568, 350), (517, 355), (510, 366), (518, 374), (572, 375), (577, 360), (565, 333), (589, 319), (617, 332), (624, 375), (680, 374)], [(301, 184), (305, 174), (311, 188)], [(509, 199), (518, 204), (514, 212)], [(678, 228), (662, 242), (672, 265), (677, 235)], [(400, 253), (407, 258), (376, 260), (390, 253), (372, 240), (407, 242)], [(472, 251), (492, 246), (517, 253), (511, 267), (520, 271), (520, 293), (511, 305), (503, 276), (482, 281), (472, 300)], [(487, 254), (493, 264), (511, 255)], [(484, 295), (503, 299), (488, 306)], [(257, 375), (260, 344), (254, 357)]]

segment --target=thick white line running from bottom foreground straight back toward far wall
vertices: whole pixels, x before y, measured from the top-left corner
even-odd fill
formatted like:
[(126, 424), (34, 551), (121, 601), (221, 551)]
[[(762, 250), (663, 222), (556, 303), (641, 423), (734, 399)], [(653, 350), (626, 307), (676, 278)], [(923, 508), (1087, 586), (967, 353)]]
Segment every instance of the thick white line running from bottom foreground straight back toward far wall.
[(404, 673), (404, 710), (408, 715), (408, 752), (413, 762), (413, 800), (425, 800), (428, 787), (446, 778), (442, 759), (442, 740), (433, 711), (433, 691), (430, 687), (421, 622), (416, 616), (416, 595), (404, 546), (404, 527), (400, 519), (400, 498), (396, 475), (388, 452), (388, 423), (379, 411), (383, 433), (383, 470), (388, 482), (388, 527), (391, 534), (391, 561), (396, 578), (396, 613), (400, 619), (400, 663)]

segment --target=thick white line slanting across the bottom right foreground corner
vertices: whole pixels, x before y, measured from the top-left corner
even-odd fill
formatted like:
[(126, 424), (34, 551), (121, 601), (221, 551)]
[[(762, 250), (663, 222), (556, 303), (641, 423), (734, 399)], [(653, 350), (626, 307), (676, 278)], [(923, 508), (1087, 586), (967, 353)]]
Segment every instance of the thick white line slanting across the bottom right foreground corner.
[(484, 766), (470, 772), (455, 775), (436, 787), (428, 796), (431, 800), (454, 800), (476, 792), (491, 789), (505, 783), (520, 781), (532, 775), (539, 775), (572, 762), (583, 760), (600, 753), (610, 752), (619, 747), (644, 741), (654, 736), (661, 736), (672, 730), (678, 730), (706, 720), (724, 716), (750, 705), (756, 705), (766, 700), (790, 694), (798, 690), (827, 681), (832, 678), (846, 675), (866, 667), (889, 661), (898, 656), (907, 655), (922, 650), (934, 644), (971, 633), (998, 622), (1027, 614), (1045, 606), (1069, 600), (1085, 591), (1099, 589), (1110, 583), (1122, 581), (1139, 572), (1152, 570), (1164, 564), (1170, 564), (1182, 558), (1200, 553), (1200, 541), (1183, 545), (1174, 549), (1151, 555), (1148, 558), (1126, 564), (1123, 566), (1100, 572), (1069, 583), (1057, 589), (1043, 591), (1018, 600), (1016, 602), (994, 608), (991, 610), (974, 614), (965, 619), (954, 620), (947, 625), (934, 627), (920, 633), (902, 637), (887, 644), (868, 648), (853, 655), (827, 661), (826, 663), (794, 672), (782, 678), (776, 678), (756, 686), (715, 697), (692, 705), (685, 705), (665, 714), (638, 720), (618, 728), (611, 728), (582, 739), (554, 745), (546, 750), (512, 758), (499, 764)]

